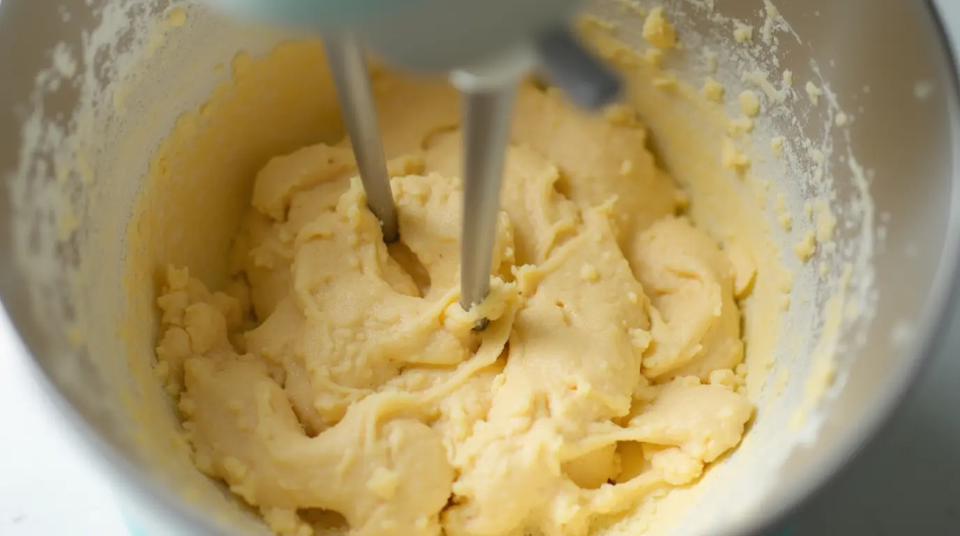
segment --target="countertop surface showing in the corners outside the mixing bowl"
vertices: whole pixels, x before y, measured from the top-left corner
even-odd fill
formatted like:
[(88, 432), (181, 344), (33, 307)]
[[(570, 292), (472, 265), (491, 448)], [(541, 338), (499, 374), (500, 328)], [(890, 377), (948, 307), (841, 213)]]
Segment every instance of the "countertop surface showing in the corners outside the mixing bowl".
[[(960, 43), (960, 2), (936, 2)], [(13, 351), (0, 309), (0, 535), (129, 536), (106, 478)], [(891, 426), (794, 523), (793, 536), (960, 534), (960, 315)]]

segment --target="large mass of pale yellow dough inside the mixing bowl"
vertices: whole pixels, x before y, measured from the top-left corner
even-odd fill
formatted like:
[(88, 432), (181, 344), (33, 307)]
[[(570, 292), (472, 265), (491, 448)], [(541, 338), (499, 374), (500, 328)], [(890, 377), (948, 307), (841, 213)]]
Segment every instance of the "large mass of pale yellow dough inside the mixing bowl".
[(739, 443), (755, 268), (677, 215), (632, 110), (521, 88), (492, 294), (467, 313), (457, 94), (374, 86), (402, 244), (348, 143), (321, 144), (259, 172), (223, 292), (167, 270), (157, 374), (201, 471), (279, 534), (336, 512), (357, 535), (559, 536)]

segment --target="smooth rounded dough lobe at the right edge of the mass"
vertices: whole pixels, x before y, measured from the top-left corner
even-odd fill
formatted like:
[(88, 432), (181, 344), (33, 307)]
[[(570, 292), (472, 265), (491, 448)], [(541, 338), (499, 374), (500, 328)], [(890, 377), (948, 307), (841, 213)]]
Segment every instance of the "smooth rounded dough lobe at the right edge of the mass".
[(636, 278), (655, 308), (653, 353), (643, 374), (657, 380), (697, 376), (743, 360), (734, 271), (727, 255), (685, 218), (664, 218), (637, 238)]

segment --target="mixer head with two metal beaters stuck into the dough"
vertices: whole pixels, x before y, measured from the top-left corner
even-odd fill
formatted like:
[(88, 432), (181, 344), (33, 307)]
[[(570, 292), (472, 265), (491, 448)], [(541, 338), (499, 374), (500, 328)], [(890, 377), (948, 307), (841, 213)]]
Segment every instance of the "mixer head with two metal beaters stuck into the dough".
[[(207, 0), (218, 9), (324, 36), (331, 74), (368, 205), (384, 240), (398, 237), (376, 124), (371, 52), (396, 68), (448, 73), (463, 93), (461, 299), (487, 296), (516, 86), (538, 71), (577, 105), (616, 99), (620, 81), (570, 30), (580, 0)], [(477, 329), (484, 329), (486, 319)]]

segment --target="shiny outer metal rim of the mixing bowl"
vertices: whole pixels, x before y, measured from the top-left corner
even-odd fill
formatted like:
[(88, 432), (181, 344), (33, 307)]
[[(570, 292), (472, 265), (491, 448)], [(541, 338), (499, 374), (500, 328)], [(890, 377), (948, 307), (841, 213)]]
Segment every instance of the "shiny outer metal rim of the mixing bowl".
[[(0, 17), (10, 12), (9, 8), (13, 1), (7, 0), (0, 3)], [(946, 67), (953, 83), (947, 91), (950, 136), (952, 139), (957, 139), (960, 138), (960, 121), (958, 121), (958, 114), (960, 114), (960, 71), (958, 71), (957, 64), (958, 51), (954, 47), (960, 46), (960, 43), (954, 43), (950, 39), (943, 16), (934, 5), (933, 0), (924, 0), (922, 5), (932, 18), (935, 38), (939, 42), (939, 48), (948, 63)], [(950, 155), (952, 159), (950, 207), (960, 207), (958, 152), (960, 150), (954, 151)], [(879, 399), (875, 406), (865, 411), (854, 426), (845, 430), (843, 436), (830, 448), (830, 452), (823, 463), (812, 469), (804, 478), (798, 479), (792, 485), (788, 484), (787, 490), (781, 494), (786, 500), (781, 501), (777, 507), (764, 516), (753, 518), (752, 521), (745, 521), (740, 526), (733, 526), (729, 530), (730, 533), (759, 534), (784, 523), (790, 515), (803, 508), (807, 502), (813, 499), (818, 491), (844, 475), (850, 467), (850, 464), (845, 462), (850, 461), (863, 451), (870, 442), (876, 439), (883, 427), (889, 425), (897, 407), (910, 393), (911, 389), (916, 387), (917, 378), (924, 365), (929, 362), (932, 353), (936, 352), (943, 344), (950, 312), (956, 309), (958, 302), (956, 294), (960, 291), (960, 225), (958, 225), (960, 222), (958, 222), (958, 219), (960, 219), (960, 215), (955, 214), (955, 210), (951, 210), (944, 239), (944, 252), (939, 261), (933, 284), (930, 287), (929, 297), (921, 310), (921, 322), (918, 323), (919, 327), (917, 328), (913, 352), (906, 352), (911, 353), (914, 357), (907, 360), (902, 367), (903, 370), (900, 371), (902, 375), (894, 385), (894, 390)], [(26, 308), (13, 311), (5, 309), (3, 306), (2, 295), (9, 295), (9, 290), (4, 290), (8, 287), (8, 284), (6, 281), (0, 280), (0, 312), (6, 310), (10, 319), (13, 328), (12, 343), (14, 351), (19, 346), (20, 351), (18, 353), (26, 357), (28, 369), (33, 372), (33, 376), (44, 394), (58, 408), (59, 417), (66, 421), (70, 433), (81, 437), (81, 448), (98, 459), (105, 472), (113, 475), (111, 481), (115, 485), (123, 487), (137, 499), (143, 499), (151, 503), (156, 509), (162, 511), (163, 517), (175, 516), (190, 525), (191, 529), (199, 530), (204, 534), (216, 535), (221, 533), (217, 526), (213, 524), (211, 518), (201, 515), (200, 510), (190, 507), (179, 496), (164, 489), (149, 476), (148, 472), (134, 464), (127, 453), (116, 448), (101, 434), (98, 434), (95, 427), (86, 421), (80, 410), (67, 400), (66, 396), (58, 389), (52, 376), (36, 359), (34, 352), (31, 350), (31, 345), (20, 334), (22, 328), (32, 320), (28, 318), (32, 313)]]

